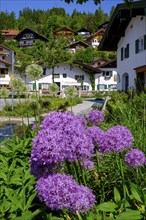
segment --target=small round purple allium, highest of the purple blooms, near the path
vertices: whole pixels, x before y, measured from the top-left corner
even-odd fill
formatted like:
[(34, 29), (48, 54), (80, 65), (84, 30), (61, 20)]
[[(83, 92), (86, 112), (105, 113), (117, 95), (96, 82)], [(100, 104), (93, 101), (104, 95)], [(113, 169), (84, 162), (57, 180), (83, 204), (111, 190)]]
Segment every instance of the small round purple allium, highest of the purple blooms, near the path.
[(104, 114), (102, 111), (99, 110), (92, 110), (88, 114), (88, 120), (92, 124), (100, 124), (101, 122), (104, 121)]

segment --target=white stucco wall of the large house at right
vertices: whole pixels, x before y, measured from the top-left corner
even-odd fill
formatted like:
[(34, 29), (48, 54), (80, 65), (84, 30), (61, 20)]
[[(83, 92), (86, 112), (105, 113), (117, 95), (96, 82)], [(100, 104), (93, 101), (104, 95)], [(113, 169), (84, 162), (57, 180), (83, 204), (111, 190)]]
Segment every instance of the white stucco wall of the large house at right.
[[(143, 18), (143, 19), (142, 19)], [(125, 36), (122, 37), (118, 43), (117, 50), (117, 72), (119, 74), (118, 90), (124, 90), (122, 75), (128, 73), (129, 87), (135, 88), (136, 73), (134, 68), (146, 65), (146, 50), (135, 53), (135, 41), (146, 34), (146, 16), (137, 16), (132, 18)], [(121, 48), (129, 44), (129, 58), (121, 61)]]

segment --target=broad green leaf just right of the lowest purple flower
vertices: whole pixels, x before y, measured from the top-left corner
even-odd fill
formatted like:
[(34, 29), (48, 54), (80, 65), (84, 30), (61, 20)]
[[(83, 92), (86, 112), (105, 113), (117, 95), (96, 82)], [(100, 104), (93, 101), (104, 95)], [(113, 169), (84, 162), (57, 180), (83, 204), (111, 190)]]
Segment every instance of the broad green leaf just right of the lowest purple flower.
[(118, 206), (114, 202), (104, 202), (97, 206), (97, 209), (103, 212), (114, 212)]

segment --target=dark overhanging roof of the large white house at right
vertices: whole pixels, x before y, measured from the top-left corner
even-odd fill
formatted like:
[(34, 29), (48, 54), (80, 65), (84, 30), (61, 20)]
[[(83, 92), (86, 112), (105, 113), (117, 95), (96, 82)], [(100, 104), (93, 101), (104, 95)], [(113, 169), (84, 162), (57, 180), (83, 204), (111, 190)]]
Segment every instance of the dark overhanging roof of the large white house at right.
[(146, 16), (146, 0), (132, 2), (130, 6), (118, 4), (99, 44), (99, 50), (116, 51), (129, 22), (137, 15)]

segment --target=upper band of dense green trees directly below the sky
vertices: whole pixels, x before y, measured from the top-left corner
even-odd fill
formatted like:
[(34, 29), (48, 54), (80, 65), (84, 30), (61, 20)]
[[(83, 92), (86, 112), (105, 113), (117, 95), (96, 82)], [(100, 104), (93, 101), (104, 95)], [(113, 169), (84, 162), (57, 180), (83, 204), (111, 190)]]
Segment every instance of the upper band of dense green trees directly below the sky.
[[(95, 6), (96, 7), (96, 6)], [(111, 8), (111, 13), (113, 8)], [(111, 14), (110, 13), (110, 14)], [(57, 28), (63, 26), (70, 27), (77, 31), (78, 29), (85, 27), (92, 33), (95, 33), (98, 26), (103, 22), (108, 21), (109, 17), (104, 11), (99, 8), (95, 13), (81, 13), (74, 10), (70, 15), (66, 13), (64, 8), (52, 8), (50, 10), (32, 10), (30, 8), (24, 8), (19, 12), (19, 16), (16, 19), (14, 12), (0, 13), (0, 29), (18, 29), (31, 28), (34, 31), (38, 31), (39, 34), (49, 36), (50, 31), (54, 31)]]

